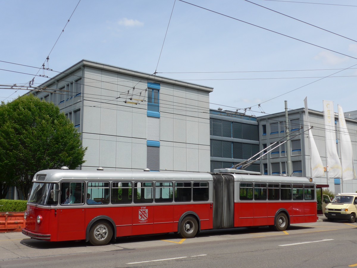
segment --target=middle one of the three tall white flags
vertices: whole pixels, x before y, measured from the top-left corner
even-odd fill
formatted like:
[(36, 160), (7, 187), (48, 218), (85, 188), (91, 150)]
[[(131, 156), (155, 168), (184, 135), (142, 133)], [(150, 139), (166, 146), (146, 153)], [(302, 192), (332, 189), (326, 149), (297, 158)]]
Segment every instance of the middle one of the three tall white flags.
[(336, 147), (335, 112), (333, 102), (323, 101), (323, 115), (325, 118), (326, 158), (329, 178), (341, 178), (342, 168)]

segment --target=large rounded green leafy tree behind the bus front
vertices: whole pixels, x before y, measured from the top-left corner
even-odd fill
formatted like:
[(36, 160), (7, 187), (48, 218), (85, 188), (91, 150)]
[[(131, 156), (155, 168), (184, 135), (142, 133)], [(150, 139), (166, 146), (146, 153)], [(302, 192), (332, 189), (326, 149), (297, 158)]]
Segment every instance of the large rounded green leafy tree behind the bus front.
[(53, 103), (33, 95), (1, 102), (0, 187), (15, 185), (27, 199), (37, 171), (64, 165), (75, 169), (85, 162), (86, 150), (80, 133)]

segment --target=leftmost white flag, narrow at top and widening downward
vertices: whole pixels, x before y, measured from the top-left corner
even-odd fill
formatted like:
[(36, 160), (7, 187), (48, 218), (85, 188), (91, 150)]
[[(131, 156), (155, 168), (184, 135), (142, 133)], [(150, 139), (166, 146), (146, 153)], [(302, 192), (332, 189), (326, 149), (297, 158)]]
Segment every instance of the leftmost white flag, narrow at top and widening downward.
[[(305, 103), (305, 115), (306, 115), (306, 121), (307, 121), (307, 126), (310, 128), (310, 123), (309, 123), (309, 114), (307, 110), (307, 97), (304, 99)], [(315, 140), (312, 135), (311, 129), (308, 131), (309, 133), (309, 143), (310, 143), (310, 164), (311, 164), (311, 177), (312, 178), (321, 178), (325, 177), (325, 171), (323, 169), (323, 164), (320, 158), (320, 154), (318, 153), (317, 146), (315, 143)]]

